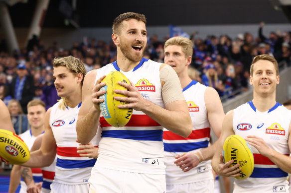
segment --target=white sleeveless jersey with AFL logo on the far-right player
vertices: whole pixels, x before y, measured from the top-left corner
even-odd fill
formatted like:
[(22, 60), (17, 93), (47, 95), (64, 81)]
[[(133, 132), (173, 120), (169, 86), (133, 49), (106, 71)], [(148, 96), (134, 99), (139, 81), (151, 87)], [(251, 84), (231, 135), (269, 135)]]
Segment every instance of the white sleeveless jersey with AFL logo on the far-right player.
[[(288, 147), (291, 111), (280, 103), (266, 112), (259, 112), (250, 101), (233, 111), (233, 130), (237, 135), (257, 135), (279, 153), (290, 155)], [(235, 179), (234, 192), (270, 193), (288, 192), (288, 173), (281, 170), (268, 157), (250, 145), (254, 154), (255, 167), (252, 175), (245, 180)]]

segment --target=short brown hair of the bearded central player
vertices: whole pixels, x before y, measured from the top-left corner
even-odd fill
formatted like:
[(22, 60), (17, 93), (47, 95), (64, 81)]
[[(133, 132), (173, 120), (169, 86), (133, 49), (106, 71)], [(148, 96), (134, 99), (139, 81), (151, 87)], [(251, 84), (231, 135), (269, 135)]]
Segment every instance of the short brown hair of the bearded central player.
[(134, 13), (134, 12), (127, 12), (118, 15), (112, 25), (112, 33), (120, 35), (121, 34), (121, 28), (122, 28), (122, 22), (128, 21), (130, 19), (136, 19), (138, 21), (142, 21), (146, 25), (146, 16), (144, 14)]

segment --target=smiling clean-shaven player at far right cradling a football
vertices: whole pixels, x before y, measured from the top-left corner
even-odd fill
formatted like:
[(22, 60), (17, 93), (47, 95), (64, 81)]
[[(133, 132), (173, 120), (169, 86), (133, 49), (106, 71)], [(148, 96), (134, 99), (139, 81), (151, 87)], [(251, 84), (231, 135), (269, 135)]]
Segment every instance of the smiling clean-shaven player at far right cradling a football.
[[(280, 82), (278, 63), (272, 56), (259, 55), (254, 58), (250, 72), (254, 98), (226, 114), (212, 167), (219, 175), (240, 175), (239, 164), (229, 168), (234, 160), (224, 164), (221, 155), (225, 139), (237, 134), (248, 141), (255, 168), (249, 178), (235, 179), (234, 193), (289, 192), (291, 111), (276, 101), (276, 86)], [(249, 124), (249, 129), (239, 127), (243, 123)]]

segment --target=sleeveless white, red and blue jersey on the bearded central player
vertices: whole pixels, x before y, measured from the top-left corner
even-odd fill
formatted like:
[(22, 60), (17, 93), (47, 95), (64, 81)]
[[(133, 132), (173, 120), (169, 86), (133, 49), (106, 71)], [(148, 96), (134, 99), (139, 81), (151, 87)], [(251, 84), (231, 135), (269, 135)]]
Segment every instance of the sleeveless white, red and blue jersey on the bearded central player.
[[(111, 71), (121, 71), (141, 95), (164, 108), (159, 78), (160, 63), (142, 59), (134, 69), (123, 72), (117, 63), (98, 69), (96, 80)], [(133, 111), (125, 127), (109, 125), (102, 114), (99, 156), (95, 166), (143, 174), (164, 174), (161, 126), (141, 111)]]

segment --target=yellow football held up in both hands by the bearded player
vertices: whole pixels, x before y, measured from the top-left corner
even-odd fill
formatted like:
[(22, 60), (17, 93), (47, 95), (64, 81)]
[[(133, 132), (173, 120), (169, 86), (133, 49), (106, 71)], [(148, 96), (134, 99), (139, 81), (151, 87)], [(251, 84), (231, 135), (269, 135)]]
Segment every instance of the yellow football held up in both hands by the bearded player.
[(117, 94), (114, 90), (127, 90), (126, 87), (121, 86), (118, 82), (125, 82), (130, 84), (130, 81), (127, 77), (120, 71), (111, 71), (106, 77), (102, 80), (106, 82), (106, 85), (100, 88), (101, 90), (106, 90), (106, 93), (100, 96), (100, 99), (104, 99), (104, 102), (100, 103), (100, 110), (107, 121), (113, 127), (124, 127), (131, 119), (133, 109), (119, 109), (117, 106), (126, 105), (129, 102), (115, 100), (114, 97), (127, 97), (122, 94)]

